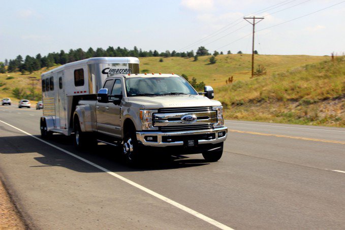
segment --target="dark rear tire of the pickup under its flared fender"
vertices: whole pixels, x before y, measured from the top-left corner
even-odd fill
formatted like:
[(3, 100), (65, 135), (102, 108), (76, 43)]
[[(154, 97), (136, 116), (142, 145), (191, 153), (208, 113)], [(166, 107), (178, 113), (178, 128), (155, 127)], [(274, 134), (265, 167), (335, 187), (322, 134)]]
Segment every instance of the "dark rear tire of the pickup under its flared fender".
[(94, 148), (97, 146), (97, 141), (92, 137), (92, 134), (81, 131), (79, 119), (74, 121), (74, 145), (79, 150)]

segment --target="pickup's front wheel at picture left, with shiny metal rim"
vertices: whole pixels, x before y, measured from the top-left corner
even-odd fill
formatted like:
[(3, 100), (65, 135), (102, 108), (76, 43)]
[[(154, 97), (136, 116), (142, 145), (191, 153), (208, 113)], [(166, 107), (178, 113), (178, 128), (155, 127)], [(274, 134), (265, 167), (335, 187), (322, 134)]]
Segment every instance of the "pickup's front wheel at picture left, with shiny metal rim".
[(136, 130), (132, 126), (126, 130), (123, 137), (123, 155), (127, 163), (136, 165), (140, 160), (140, 146), (138, 144)]

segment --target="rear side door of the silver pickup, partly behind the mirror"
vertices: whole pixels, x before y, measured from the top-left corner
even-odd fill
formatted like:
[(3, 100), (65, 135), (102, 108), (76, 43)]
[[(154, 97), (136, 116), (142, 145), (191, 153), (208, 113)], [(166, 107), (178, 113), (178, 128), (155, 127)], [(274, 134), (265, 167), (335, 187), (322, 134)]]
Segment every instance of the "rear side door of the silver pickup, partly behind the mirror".
[[(109, 79), (105, 82), (103, 88), (108, 89), (108, 94), (113, 89), (115, 79)], [(97, 130), (98, 132), (111, 135), (111, 120), (108, 117), (110, 103), (97, 103), (96, 104), (96, 117), (97, 117)]]

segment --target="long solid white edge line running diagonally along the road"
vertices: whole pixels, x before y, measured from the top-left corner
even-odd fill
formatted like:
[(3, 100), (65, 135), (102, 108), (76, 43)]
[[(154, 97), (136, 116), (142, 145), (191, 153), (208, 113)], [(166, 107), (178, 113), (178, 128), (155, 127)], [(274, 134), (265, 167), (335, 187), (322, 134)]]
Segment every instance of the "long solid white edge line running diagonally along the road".
[(85, 163), (88, 163), (89, 165), (91, 165), (93, 167), (96, 167), (96, 168), (98, 168), (98, 169), (100, 169), (100, 170), (102, 170), (102, 171), (104, 171), (104, 172), (106, 172), (106, 173), (116, 177), (117, 179), (120, 179), (120, 180), (122, 180), (122, 181), (124, 181), (126, 183), (129, 183), (130, 185), (133, 185), (134, 187), (137, 187), (140, 190), (142, 190), (144, 192), (147, 192), (150, 195), (155, 196), (155, 198), (158, 198), (158, 199), (160, 199), (162, 201), (165, 201), (168, 204), (171, 204), (171, 205), (175, 206), (176, 208), (179, 208), (179, 209), (181, 209), (181, 210), (183, 210), (183, 211), (185, 211), (187, 213), (190, 213), (193, 216), (196, 216), (196, 217), (198, 217), (198, 218), (200, 218), (200, 219), (202, 219), (202, 220), (204, 220), (204, 221), (206, 221), (206, 222), (208, 222), (208, 223), (210, 223), (210, 224), (212, 224), (212, 225), (214, 225), (214, 226), (216, 226), (218, 228), (227, 229), (227, 230), (233, 230), (233, 228), (231, 228), (231, 227), (229, 227), (229, 226), (227, 226), (227, 225), (225, 225), (225, 224), (223, 224), (221, 222), (218, 222), (218, 221), (216, 221), (214, 219), (211, 219), (211, 218), (209, 218), (209, 217), (207, 217), (207, 216), (205, 216), (205, 215), (203, 215), (203, 214), (201, 214), (201, 213), (199, 213), (199, 212), (197, 212), (197, 211), (195, 211), (193, 209), (190, 209), (190, 208), (188, 208), (188, 207), (186, 207), (184, 205), (181, 205), (181, 204), (179, 204), (179, 203), (177, 203), (177, 202), (175, 202), (173, 200), (170, 200), (169, 198), (167, 198), (167, 197), (165, 197), (165, 196), (163, 196), (163, 195), (161, 195), (159, 193), (156, 193), (156, 192), (154, 192), (154, 191), (152, 191), (152, 190), (150, 190), (150, 189), (148, 189), (148, 188), (146, 188), (146, 187), (144, 187), (144, 186), (142, 186), (140, 184), (137, 184), (137, 183), (135, 183), (135, 182), (133, 182), (133, 181), (127, 179), (127, 178), (124, 178), (124, 177), (122, 177), (122, 176), (120, 176), (120, 175), (118, 175), (118, 174), (116, 174), (114, 172), (111, 172), (110, 170), (107, 170), (106, 168), (103, 168), (102, 166), (96, 165), (96, 163), (93, 163), (93, 162), (91, 162), (91, 161), (89, 161), (87, 159), (84, 159), (84, 158), (82, 158), (82, 157), (80, 157), (80, 156), (78, 156), (78, 155), (76, 155), (76, 154), (74, 154), (74, 153), (72, 153), (70, 151), (62, 149), (62, 148), (60, 148), (60, 147), (58, 147), (56, 145), (53, 145), (53, 144), (51, 144), (49, 142), (46, 142), (46, 141), (44, 141), (44, 140), (42, 140), (42, 139), (40, 139), (38, 137), (35, 137), (34, 135), (29, 134), (29, 133), (25, 132), (24, 130), (22, 130), (20, 128), (17, 128), (17, 127), (15, 127), (15, 126), (13, 126), (13, 125), (11, 125), (9, 123), (6, 123), (5, 121), (0, 120), (0, 122), (3, 122), (4, 124), (7, 124), (7, 125), (11, 126), (12, 128), (17, 129), (20, 132), (22, 132), (22, 133), (24, 133), (24, 134), (26, 134), (26, 135), (28, 135), (30, 137), (33, 137), (33, 138), (35, 138), (35, 139), (37, 139), (37, 140), (39, 140), (39, 141), (41, 141), (41, 142), (43, 142), (43, 143), (45, 143), (47, 145), (50, 145), (51, 147), (54, 147), (54, 148), (56, 148), (56, 149), (58, 149), (58, 150), (60, 150), (62, 152), (65, 152), (65, 153), (67, 153), (67, 154), (69, 154), (69, 155), (71, 155), (71, 156), (73, 156), (73, 157), (75, 157), (75, 158), (77, 158), (79, 160), (82, 160)]

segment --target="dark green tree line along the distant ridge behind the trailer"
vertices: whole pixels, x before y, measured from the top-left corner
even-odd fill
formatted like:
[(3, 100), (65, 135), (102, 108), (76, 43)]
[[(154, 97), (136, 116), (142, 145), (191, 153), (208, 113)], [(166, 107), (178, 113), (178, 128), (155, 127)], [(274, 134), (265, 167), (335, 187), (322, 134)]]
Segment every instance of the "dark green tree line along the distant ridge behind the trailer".
[[(239, 51), (239, 53), (241, 53)], [(219, 53), (214, 51), (213, 56), (217, 56)], [(223, 52), (221, 52), (223, 54)], [(228, 54), (231, 54), (230, 50)], [(143, 51), (138, 49), (136, 46), (129, 50), (126, 47), (124, 48), (114, 48), (109, 46), (107, 49), (97, 48), (93, 50), (91, 47), (85, 52), (81, 48), (79, 49), (70, 49), (68, 53), (64, 50), (60, 52), (48, 53), (48, 55), (43, 56), (37, 54), (36, 56), (25, 56), (25, 59), (21, 55), (18, 55), (15, 59), (5, 59), (5, 62), (0, 62), (0, 73), (5, 73), (5, 66), (8, 66), (7, 72), (17, 72), (20, 71), (22, 74), (25, 72), (32, 73), (38, 71), (43, 67), (52, 67), (55, 64), (66, 64), (73, 61), (83, 60), (90, 57), (185, 57), (192, 58), (194, 61), (198, 60), (198, 56), (211, 55), (208, 50), (200, 46), (196, 53), (193, 50), (187, 52), (176, 52), (173, 50), (170, 52), (166, 50), (165, 52), (158, 52), (157, 50)], [(162, 62), (163, 59), (160, 59)], [(215, 62), (214, 62), (215, 63)]]

